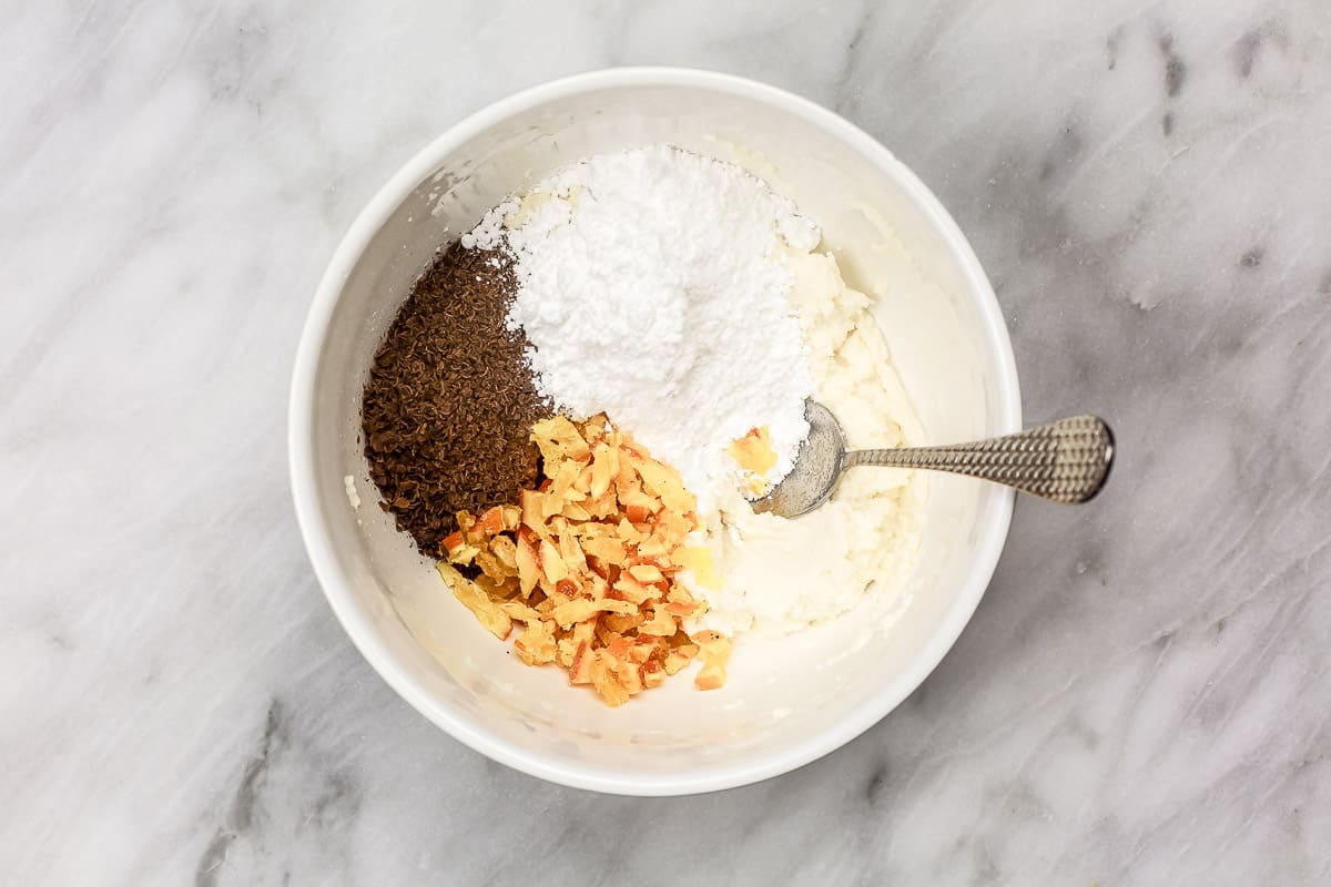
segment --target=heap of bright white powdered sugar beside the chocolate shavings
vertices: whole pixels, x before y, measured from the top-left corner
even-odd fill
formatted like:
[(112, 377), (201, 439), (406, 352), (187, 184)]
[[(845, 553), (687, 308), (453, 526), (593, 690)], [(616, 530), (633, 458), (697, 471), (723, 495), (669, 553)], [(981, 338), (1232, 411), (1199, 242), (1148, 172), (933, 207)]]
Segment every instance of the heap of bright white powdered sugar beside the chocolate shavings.
[(667, 146), (600, 154), (496, 206), (469, 247), (506, 246), (508, 323), (540, 391), (604, 411), (701, 499), (733, 476), (725, 447), (767, 426), (789, 471), (813, 391), (783, 243), (819, 230), (737, 166)]

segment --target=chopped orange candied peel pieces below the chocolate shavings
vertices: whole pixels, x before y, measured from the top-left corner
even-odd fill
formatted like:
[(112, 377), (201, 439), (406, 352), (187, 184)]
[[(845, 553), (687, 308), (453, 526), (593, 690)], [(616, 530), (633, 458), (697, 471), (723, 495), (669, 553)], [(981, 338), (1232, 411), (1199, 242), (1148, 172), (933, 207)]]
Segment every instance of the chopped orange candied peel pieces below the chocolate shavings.
[(523, 662), (566, 669), (570, 684), (590, 685), (606, 705), (659, 686), (699, 656), (695, 686), (721, 686), (729, 641), (683, 628), (707, 605), (679, 574), (691, 570), (711, 588), (716, 576), (711, 551), (687, 544), (700, 524), (679, 473), (604, 415), (554, 416), (531, 439), (544, 461), (539, 488), (479, 516), (459, 512), (459, 531), (445, 540), (438, 567), (454, 596), (500, 640), (520, 624), (514, 650)]

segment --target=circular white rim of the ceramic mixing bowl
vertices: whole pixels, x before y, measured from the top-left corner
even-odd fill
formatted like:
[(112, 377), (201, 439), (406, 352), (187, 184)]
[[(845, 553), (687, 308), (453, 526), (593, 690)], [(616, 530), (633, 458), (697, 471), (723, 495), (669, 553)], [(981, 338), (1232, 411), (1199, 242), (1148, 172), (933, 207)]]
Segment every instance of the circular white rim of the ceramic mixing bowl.
[(909, 669), (886, 684), (876, 696), (856, 709), (852, 717), (837, 723), (833, 729), (805, 737), (784, 749), (755, 755), (743, 763), (712, 765), (667, 774), (638, 774), (615, 767), (600, 767), (594, 763), (550, 758), (478, 726), (465, 713), (454, 710), (453, 706), (433, 696), (399, 665), (395, 654), (374, 629), (373, 620), (355, 598), (350, 584), (337, 567), (327, 525), (319, 509), (314, 476), (314, 383), (319, 356), (329, 334), (334, 309), (342, 295), (342, 287), (366, 246), (389, 215), (437, 169), (441, 158), (462, 144), (507, 117), (554, 100), (603, 89), (655, 86), (693, 88), (776, 106), (805, 118), (812, 125), (851, 144), (864, 156), (876, 158), (885, 170), (890, 170), (930, 219), (930, 223), (936, 226), (946, 243), (949, 258), (962, 271), (966, 286), (977, 297), (976, 307), (980, 313), (984, 335), (998, 364), (997, 390), (1000, 396), (994, 408), (1000, 431), (1006, 434), (1021, 427), (1021, 395), (1008, 327), (993, 287), (961, 229), (924, 182), (881, 142), (840, 114), (808, 98), (744, 77), (689, 68), (642, 66), (592, 70), (531, 86), (487, 105), (446, 129), (394, 173), (355, 217), (333, 251), (315, 290), (295, 352), (287, 424), (289, 468), (297, 523), (310, 564), (338, 622), (370, 666), (409, 705), (451, 737), (494, 761), (550, 782), (607, 794), (640, 797), (717, 791), (768, 779), (821, 758), (886, 717), (937, 668), (974, 614), (1002, 553), (1014, 496), (1010, 489), (998, 491), (997, 505), (992, 511), (990, 519), (981, 525), (981, 537), (966, 582), (958, 589), (956, 600), (944, 616), (940, 630), (929, 640)]

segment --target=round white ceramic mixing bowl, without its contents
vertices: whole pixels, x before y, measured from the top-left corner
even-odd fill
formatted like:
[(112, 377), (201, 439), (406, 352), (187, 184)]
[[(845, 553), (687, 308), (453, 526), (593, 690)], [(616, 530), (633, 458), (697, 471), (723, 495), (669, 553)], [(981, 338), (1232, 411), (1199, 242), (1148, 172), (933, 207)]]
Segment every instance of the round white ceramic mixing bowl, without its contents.
[[(957, 640), (993, 573), (1006, 489), (934, 477), (905, 602), (781, 641), (736, 644), (729, 681), (683, 678), (607, 710), (483, 632), (377, 507), (361, 448), (370, 356), (442, 243), (504, 194), (579, 157), (651, 142), (729, 160), (824, 231), (877, 317), (930, 440), (1006, 434), (1021, 408), (993, 290), (929, 190), (868, 134), (789, 93), (677, 69), (582, 74), (453, 126), (370, 201), (338, 246), (291, 386), (291, 485), (329, 602), (379, 674), (473, 749), (532, 775), (619, 794), (756, 782), (827, 754), (900, 703)], [(363, 500), (353, 509), (343, 479)]]

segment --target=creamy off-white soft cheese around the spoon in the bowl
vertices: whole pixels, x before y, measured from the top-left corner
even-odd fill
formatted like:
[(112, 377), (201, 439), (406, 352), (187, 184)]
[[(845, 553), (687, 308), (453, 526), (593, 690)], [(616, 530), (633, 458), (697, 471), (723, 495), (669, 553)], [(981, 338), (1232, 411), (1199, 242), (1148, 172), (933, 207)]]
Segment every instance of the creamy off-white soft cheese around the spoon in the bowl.
[[(841, 423), (847, 445), (918, 444), (922, 430), (892, 367), (869, 298), (847, 287), (832, 255), (783, 257), (809, 346), (815, 396)], [(779, 636), (835, 618), (866, 593), (890, 593), (920, 549), (925, 479), (918, 472), (848, 472), (832, 500), (797, 519), (755, 515), (739, 493), (705, 513), (721, 578), (697, 589), (707, 628)]]

